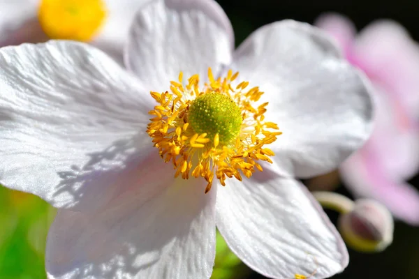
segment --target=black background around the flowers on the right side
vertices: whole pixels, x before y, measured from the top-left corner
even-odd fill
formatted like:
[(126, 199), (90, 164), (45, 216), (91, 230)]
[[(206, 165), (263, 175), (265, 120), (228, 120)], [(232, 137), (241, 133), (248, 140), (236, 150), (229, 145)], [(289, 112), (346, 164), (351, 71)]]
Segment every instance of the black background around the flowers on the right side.
[[(240, 44), (251, 31), (264, 24), (284, 19), (313, 23), (318, 15), (337, 12), (348, 16), (356, 27), (362, 29), (373, 20), (390, 18), (396, 20), (419, 39), (419, 1), (397, 0), (219, 0), (235, 30), (236, 45)], [(418, 73), (419, 78), (419, 73)], [(418, 177), (410, 181), (418, 187)], [(349, 195), (344, 187), (338, 192)], [(328, 212), (329, 213), (329, 212)], [(330, 213), (335, 222), (337, 215)], [(349, 249), (348, 268), (334, 279), (419, 279), (419, 228), (401, 222), (395, 223), (392, 245), (384, 252), (362, 254)], [(249, 278), (264, 278), (252, 273)], [(291, 279), (291, 278), (290, 278)]]

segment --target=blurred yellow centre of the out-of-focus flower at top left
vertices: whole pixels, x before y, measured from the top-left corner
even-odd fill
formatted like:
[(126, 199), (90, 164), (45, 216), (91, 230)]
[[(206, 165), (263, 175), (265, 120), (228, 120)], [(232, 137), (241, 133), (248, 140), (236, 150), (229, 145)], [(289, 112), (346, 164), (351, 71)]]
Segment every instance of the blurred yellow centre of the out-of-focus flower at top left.
[(42, 0), (38, 17), (53, 39), (91, 40), (105, 19), (102, 0)]

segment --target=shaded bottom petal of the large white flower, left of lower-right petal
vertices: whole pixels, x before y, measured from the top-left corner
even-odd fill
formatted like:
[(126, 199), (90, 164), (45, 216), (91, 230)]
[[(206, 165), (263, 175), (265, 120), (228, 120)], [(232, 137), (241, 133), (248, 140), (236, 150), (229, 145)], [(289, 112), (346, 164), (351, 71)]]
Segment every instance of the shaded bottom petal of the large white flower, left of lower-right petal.
[(50, 278), (210, 278), (216, 189), (161, 181), (166, 169), (155, 167), (105, 211), (59, 211), (47, 239)]

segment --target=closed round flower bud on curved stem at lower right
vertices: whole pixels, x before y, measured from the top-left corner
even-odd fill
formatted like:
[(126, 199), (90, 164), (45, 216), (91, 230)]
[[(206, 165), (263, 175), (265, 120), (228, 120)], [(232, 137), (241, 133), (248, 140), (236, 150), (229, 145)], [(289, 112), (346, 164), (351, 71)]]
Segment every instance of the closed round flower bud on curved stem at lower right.
[(358, 199), (352, 211), (339, 217), (346, 244), (360, 252), (380, 252), (392, 243), (394, 223), (390, 211), (372, 199)]

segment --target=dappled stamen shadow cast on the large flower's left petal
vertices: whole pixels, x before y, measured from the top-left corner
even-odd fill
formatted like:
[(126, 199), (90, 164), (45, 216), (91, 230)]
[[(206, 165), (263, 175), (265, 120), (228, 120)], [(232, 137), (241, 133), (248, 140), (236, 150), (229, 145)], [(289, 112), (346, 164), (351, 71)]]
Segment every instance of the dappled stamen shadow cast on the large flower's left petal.
[[(75, 206), (72, 210), (94, 211), (147, 182), (145, 180), (150, 178), (145, 172), (150, 172), (150, 168), (159, 167), (166, 173), (173, 172), (147, 140), (142, 135), (117, 140), (103, 151), (87, 154), (89, 160), (84, 166), (72, 165), (71, 170), (57, 172), (61, 181), (52, 199), (65, 197), (67, 206), (64, 209)], [(149, 144), (150, 148), (145, 148), (145, 144)]]

